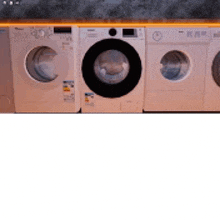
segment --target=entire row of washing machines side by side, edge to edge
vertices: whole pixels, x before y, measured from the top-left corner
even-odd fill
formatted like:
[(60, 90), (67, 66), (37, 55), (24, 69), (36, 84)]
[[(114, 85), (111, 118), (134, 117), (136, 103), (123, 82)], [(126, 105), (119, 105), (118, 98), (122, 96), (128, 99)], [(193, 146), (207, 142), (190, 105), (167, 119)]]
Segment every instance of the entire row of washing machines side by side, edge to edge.
[(220, 111), (220, 28), (0, 28), (0, 112)]

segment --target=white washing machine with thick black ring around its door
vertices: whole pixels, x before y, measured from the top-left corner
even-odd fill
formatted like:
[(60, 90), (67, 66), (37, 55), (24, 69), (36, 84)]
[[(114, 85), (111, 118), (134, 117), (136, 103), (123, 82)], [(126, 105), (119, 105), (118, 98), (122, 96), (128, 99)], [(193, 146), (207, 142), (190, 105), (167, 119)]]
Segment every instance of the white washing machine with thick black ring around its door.
[(142, 112), (144, 28), (80, 28), (82, 112)]

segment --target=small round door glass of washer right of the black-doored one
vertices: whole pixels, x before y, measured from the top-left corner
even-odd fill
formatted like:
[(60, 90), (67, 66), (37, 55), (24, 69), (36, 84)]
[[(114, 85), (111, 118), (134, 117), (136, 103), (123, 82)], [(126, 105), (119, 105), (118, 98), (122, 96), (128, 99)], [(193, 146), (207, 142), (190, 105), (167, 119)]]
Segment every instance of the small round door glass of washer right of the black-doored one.
[(190, 62), (188, 57), (180, 51), (170, 51), (163, 56), (160, 63), (162, 75), (169, 80), (183, 79), (189, 72)]

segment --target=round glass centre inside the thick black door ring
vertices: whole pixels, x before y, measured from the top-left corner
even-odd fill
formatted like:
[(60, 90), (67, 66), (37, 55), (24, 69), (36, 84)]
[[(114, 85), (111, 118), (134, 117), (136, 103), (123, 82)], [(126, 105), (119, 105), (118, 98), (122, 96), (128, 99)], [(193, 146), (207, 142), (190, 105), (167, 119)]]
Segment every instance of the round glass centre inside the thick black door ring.
[(102, 52), (94, 63), (96, 77), (107, 84), (122, 82), (127, 77), (129, 69), (127, 57), (118, 50)]

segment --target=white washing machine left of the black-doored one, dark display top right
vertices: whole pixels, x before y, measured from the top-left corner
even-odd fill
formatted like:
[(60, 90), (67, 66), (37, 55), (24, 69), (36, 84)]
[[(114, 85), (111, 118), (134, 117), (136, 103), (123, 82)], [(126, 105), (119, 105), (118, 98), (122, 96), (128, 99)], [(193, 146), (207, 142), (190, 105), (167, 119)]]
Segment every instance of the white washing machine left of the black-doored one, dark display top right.
[(76, 26), (11, 26), (16, 112), (78, 112)]

